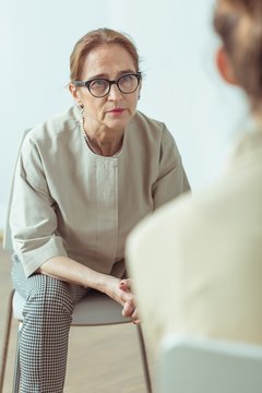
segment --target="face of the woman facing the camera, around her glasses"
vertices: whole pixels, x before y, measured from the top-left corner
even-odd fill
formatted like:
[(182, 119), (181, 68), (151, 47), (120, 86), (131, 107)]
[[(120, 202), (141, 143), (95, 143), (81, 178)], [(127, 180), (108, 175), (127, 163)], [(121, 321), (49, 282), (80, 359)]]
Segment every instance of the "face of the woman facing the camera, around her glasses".
[[(103, 45), (93, 49), (85, 59), (82, 81), (95, 78), (117, 80), (127, 73), (136, 73), (130, 53), (119, 44)], [(76, 87), (71, 92), (78, 104), (84, 106), (85, 127), (92, 131), (99, 129), (123, 131), (135, 114), (140, 86), (131, 94), (123, 94), (116, 84), (111, 85), (108, 95), (94, 97), (86, 86)]]

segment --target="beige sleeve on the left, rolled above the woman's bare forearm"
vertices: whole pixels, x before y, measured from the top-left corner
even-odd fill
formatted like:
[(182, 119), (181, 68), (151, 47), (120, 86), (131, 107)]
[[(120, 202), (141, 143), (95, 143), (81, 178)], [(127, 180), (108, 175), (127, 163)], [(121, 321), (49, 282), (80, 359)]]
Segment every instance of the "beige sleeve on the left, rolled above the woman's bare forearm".
[(17, 159), (10, 226), (14, 251), (26, 276), (45, 261), (67, 255), (62, 239), (56, 234), (56, 201), (50, 196), (37, 147), (24, 142)]

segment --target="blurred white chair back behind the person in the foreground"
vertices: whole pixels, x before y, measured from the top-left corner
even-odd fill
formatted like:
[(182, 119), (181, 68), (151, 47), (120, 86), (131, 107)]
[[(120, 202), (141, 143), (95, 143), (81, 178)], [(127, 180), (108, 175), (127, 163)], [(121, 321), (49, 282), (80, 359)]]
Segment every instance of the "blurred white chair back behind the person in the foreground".
[(157, 393), (261, 393), (262, 346), (166, 335), (159, 346)]

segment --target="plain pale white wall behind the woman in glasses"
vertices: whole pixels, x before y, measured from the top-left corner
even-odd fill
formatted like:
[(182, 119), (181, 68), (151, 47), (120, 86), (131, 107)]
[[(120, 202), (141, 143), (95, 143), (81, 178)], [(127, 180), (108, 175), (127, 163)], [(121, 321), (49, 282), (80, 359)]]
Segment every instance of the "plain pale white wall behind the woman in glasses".
[(192, 188), (210, 182), (228, 135), (242, 120), (242, 99), (214, 68), (213, 0), (0, 0), (0, 228), (24, 129), (71, 105), (69, 56), (87, 31), (131, 35), (145, 73), (139, 108), (165, 121)]

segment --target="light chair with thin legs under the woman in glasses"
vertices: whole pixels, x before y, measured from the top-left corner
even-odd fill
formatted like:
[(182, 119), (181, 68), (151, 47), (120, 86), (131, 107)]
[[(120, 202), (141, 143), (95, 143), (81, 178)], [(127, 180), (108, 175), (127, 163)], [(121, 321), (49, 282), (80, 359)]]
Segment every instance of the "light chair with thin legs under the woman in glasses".
[[(28, 131), (29, 130), (26, 130), (24, 132), (20, 148)], [(4, 237), (3, 237), (3, 248), (9, 251), (13, 250), (11, 230), (9, 225), (12, 193), (13, 193), (13, 181), (10, 190), (7, 224), (5, 224)], [(5, 333), (3, 337), (3, 350), (2, 350), (1, 374), (0, 374), (0, 393), (2, 393), (3, 382), (4, 382), (12, 318), (19, 321), (16, 357), (15, 357), (14, 377), (13, 377), (13, 393), (19, 392), (19, 385), (20, 385), (19, 336), (20, 336), (20, 329), (23, 324), (22, 311), (24, 305), (25, 305), (24, 298), (21, 297), (19, 293), (16, 293), (15, 290), (12, 290), (9, 297), (8, 318), (7, 318)], [(81, 300), (75, 306), (72, 318), (73, 319), (71, 326), (100, 326), (100, 325), (131, 322), (131, 320), (128, 320), (127, 318), (122, 317), (121, 306), (119, 303), (117, 303), (108, 296), (96, 290), (92, 290), (83, 300)], [(136, 332), (139, 336), (141, 357), (142, 357), (142, 364), (143, 364), (143, 370), (144, 370), (145, 383), (146, 383), (146, 391), (147, 393), (151, 393), (152, 386), (151, 386), (150, 370), (148, 370), (148, 364), (146, 357), (146, 349), (143, 340), (142, 329), (140, 325), (136, 325)]]

